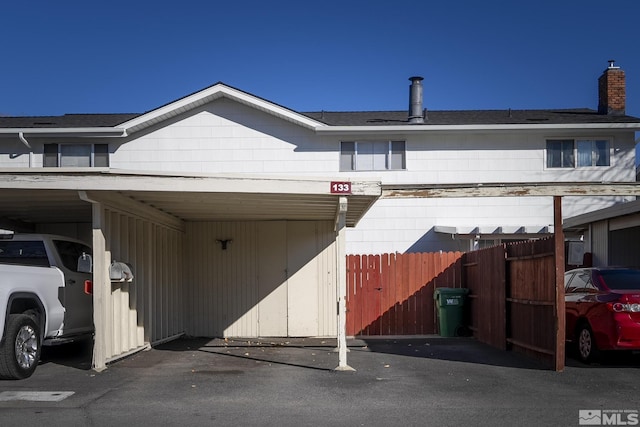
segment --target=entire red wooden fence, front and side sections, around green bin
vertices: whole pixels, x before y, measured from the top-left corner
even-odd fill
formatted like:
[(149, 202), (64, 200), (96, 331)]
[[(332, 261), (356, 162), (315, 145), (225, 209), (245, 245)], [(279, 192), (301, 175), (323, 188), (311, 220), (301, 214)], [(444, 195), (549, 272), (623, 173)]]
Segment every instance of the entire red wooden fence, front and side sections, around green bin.
[(481, 342), (564, 369), (563, 237), (468, 253), (347, 257), (347, 334), (437, 334), (435, 288), (468, 288)]

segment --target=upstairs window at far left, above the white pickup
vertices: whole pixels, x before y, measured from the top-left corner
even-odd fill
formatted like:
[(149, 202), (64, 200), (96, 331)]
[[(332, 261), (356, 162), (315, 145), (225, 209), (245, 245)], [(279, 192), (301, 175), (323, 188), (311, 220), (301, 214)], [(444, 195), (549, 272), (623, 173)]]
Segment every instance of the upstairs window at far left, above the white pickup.
[(44, 167), (109, 167), (109, 144), (44, 144)]

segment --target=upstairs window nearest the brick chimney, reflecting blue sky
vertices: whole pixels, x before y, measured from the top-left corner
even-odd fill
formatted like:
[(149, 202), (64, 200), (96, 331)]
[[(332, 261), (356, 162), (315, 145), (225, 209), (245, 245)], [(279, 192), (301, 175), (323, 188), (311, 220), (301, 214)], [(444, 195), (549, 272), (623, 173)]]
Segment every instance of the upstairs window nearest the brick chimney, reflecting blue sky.
[(610, 165), (610, 142), (607, 139), (547, 140), (547, 168)]

